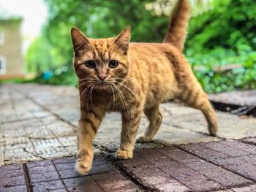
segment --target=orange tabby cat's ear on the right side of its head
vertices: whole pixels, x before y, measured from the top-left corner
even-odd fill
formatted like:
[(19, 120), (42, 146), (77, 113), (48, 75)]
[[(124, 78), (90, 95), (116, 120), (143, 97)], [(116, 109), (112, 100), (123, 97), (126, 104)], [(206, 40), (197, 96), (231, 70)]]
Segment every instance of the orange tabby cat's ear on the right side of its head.
[(121, 31), (121, 33), (118, 34), (118, 37), (116, 37), (116, 39), (114, 40), (116, 47), (118, 47), (118, 49), (121, 49), (125, 55), (127, 54), (127, 51), (129, 49), (130, 39), (131, 39), (131, 28), (127, 27), (123, 31)]

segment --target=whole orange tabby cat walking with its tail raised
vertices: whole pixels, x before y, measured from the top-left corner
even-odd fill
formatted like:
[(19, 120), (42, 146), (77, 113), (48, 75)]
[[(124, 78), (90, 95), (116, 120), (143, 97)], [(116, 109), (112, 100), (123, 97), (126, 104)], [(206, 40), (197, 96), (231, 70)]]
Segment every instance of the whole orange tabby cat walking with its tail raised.
[(137, 141), (151, 141), (162, 123), (159, 104), (167, 99), (176, 98), (201, 110), (208, 131), (216, 135), (215, 112), (181, 53), (188, 20), (189, 3), (181, 0), (163, 43), (129, 43), (130, 28), (107, 39), (89, 39), (72, 28), (80, 92), (76, 164), (80, 174), (91, 169), (92, 142), (106, 112), (121, 112), (121, 143), (116, 158), (132, 158), (143, 112), (149, 126)]

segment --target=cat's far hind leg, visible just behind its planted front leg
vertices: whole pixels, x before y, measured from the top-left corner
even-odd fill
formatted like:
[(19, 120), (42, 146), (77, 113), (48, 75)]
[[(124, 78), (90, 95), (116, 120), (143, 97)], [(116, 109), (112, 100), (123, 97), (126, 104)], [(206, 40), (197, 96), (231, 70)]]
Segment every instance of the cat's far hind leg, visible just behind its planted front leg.
[(154, 135), (157, 134), (162, 123), (162, 114), (159, 112), (159, 105), (144, 110), (144, 113), (149, 120), (149, 125), (144, 134), (138, 136), (137, 142), (150, 142)]

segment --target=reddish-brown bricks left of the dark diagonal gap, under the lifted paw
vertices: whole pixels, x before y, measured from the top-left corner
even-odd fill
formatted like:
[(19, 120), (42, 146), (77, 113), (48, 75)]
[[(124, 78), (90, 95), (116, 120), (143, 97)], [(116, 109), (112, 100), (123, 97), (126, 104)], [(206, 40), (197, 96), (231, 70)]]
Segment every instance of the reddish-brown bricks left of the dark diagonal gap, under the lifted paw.
[(98, 155), (94, 158), (86, 176), (75, 172), (73, 157), (0, 166), (0, 191), (140, 191), (110, 161)]

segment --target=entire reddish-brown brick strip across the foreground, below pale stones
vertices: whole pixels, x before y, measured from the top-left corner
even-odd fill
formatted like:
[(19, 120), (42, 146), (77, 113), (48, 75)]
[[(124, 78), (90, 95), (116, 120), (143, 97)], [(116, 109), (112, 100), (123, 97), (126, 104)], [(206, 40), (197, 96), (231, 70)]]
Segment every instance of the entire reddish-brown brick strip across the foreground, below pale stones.
[(255, 148), (227, 140), (138, 148), (127, 161), (96, 154), (86, 176), (75, 157), (11, 164), (0, 166), (0, 191), (254, 191)]

